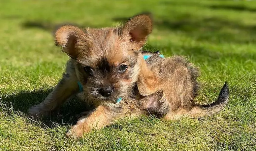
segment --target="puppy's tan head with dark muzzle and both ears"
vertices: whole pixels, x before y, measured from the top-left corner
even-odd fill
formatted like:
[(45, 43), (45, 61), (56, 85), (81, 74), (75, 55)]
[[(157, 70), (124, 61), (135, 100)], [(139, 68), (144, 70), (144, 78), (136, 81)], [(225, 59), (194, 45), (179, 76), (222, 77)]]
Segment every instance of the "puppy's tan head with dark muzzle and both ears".
[(141, 14), (116, 28), (63, 26), (55, 41), (73, 59), (87, 97), (116, 100), (131, 92), (140, 68), (139, 50), (151, 31), (151, 17)]

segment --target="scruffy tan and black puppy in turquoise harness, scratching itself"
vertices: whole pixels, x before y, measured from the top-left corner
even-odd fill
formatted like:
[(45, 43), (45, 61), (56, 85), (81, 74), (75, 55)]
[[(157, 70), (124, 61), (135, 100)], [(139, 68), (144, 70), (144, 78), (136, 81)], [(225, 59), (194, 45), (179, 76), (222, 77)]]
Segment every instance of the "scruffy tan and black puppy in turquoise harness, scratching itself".
[(58, 29), (56, 44), (70, 56), (66, 72), (49, 96), (29, 109), (29, 114), (47, 115), (78, 93), (81, 100), (93, 103), (96, 109), (79, 118), (66, 134), (76, 138), (118, 118), (155, 114), (177, 120), (222, 110), (228, 103), (227, 84), (216, 102), (196, 104), (198, 68), (181, 56), (163, 58), (158, 52), (142, 52), (151, 31), (152, 19), (146, 14), (136, 15), (115, 28)]

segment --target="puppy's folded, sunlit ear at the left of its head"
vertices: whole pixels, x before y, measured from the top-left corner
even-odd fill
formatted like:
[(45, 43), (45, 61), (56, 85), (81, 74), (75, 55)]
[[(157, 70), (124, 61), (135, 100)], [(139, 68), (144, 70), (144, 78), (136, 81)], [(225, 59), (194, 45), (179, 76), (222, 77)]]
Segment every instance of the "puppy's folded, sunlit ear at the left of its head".
[(63, 52), (75, 59), (77, 57), (75, 44), (77, 43), (77, 39), (83, 36), (85, 36), (85, 32), (82, 29), (66, 25), (55, 32), (55, 43), (57, 46), (62, 47)]

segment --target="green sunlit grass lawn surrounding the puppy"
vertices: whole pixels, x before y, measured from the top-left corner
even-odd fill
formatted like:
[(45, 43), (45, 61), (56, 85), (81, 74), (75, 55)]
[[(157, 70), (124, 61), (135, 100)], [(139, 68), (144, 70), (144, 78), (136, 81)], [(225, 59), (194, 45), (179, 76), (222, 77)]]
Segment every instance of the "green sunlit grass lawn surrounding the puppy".
[[(0, 1), (0, 150), (256, 150), (256, 2)], [(79, 140), (65, 138), (83, 111), (73, 99), (42, 121), (26, 117), (61, 78), (68, 57), (54, 46), (56, 24), (109, 27), (142, 11), (154, 14), (146, 48), (180, 54), (201, 69), (197, 102), (224, 84), (230, 102), (204, 119), (119, 121)]]

